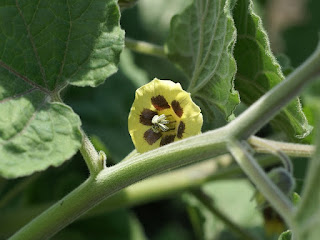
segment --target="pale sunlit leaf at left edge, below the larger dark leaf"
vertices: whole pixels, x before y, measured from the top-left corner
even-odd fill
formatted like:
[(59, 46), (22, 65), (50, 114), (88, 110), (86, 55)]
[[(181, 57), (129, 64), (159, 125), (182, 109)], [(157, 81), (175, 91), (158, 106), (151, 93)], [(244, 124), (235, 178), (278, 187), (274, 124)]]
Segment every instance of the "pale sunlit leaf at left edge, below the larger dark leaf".
[[(27, 91), (26, 91), (27, 93)], [(39, 90), (0, 104), (0, 174), (14, 178), (59, 166), (81, 145), (80, 119)]]

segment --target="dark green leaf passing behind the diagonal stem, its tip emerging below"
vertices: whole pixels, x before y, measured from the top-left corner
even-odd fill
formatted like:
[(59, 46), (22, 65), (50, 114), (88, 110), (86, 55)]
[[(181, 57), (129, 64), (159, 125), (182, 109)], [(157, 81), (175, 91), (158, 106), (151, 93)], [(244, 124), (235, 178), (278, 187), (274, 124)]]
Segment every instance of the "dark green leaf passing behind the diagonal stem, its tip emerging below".
[[(253, 13), (251, 0), (238, 0), (233, 9), (237, 28), (234, 56), (237, 61), (236, 89), (250, 105), (284, 79), (273, 56), (261, 19)], [(304, 138), (312, 127), (302, 112), (299, 99), (292, 101), (271, 124), (290, 138)]]

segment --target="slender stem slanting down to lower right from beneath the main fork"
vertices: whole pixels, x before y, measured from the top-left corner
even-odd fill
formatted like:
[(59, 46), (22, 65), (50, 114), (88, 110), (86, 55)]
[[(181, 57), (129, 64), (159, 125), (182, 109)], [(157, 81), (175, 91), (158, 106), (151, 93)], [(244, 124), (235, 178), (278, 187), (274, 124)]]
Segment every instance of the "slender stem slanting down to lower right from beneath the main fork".
[(229, 142), (229, 150), (239, 166), (256, 185), (274, 209), (282, 216), (288, 226), (293, 218), (293, 205), (280, 189), (270, 180), (257, 161), (245, 150), (238, 140)]

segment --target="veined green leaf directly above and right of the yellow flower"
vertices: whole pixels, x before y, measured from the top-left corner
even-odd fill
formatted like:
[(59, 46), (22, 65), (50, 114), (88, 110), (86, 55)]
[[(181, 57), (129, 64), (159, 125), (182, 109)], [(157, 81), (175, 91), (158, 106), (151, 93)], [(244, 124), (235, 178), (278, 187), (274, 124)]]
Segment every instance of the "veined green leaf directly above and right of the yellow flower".
[(239, 103), (233, 88), (235, 27), (229, 1), (194, 0), (171, 20), (167, 54), (189, 77), (188, 91), (229, 117)]

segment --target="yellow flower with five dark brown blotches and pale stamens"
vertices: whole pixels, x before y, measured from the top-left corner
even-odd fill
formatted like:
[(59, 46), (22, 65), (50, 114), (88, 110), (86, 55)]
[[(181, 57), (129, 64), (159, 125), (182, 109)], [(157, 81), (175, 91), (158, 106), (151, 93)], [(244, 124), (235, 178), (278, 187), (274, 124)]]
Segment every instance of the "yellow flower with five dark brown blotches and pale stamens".
[(153, 79), (136, 91), (128, 119), (129, 133), (138, 152), (199, 134), (200, 108), (179, 83)]

